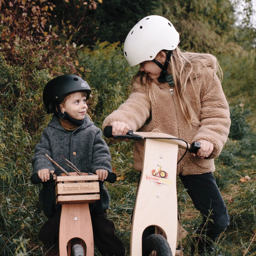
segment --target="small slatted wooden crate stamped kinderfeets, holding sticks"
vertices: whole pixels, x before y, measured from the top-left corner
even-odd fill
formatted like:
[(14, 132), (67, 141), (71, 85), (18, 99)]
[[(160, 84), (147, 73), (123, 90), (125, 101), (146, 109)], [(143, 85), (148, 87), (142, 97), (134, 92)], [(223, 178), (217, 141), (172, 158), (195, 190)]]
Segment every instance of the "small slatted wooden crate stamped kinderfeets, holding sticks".
[(93, 203), (100, 199), (98, 175), (63, 174), (55, 180), (56, 203)]

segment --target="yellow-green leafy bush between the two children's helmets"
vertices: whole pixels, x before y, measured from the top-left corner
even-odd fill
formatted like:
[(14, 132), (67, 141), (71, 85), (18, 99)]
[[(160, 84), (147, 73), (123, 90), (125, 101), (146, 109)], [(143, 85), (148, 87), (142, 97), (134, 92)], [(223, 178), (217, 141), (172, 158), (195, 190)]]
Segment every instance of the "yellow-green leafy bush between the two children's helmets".
[(89, 69), (80, 69), (92, 89), (89, 112), (101, 126), (104, 118), (128, 97), (130, 80), (137, 67), (129, 67), (118, 43), (98, 43), (93, 51), (80, 51), (79, 59), (79, 65)]

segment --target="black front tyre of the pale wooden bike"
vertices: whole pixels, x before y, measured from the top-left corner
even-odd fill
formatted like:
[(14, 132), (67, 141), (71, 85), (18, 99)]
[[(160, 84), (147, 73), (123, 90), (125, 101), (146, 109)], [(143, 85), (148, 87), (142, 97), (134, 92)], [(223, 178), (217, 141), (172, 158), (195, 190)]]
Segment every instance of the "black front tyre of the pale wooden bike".
[(142, 256), (172, 256), (167, 240), (158, 234), (149, 235), (142, 246)]

